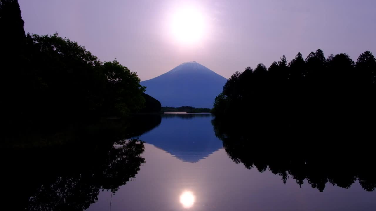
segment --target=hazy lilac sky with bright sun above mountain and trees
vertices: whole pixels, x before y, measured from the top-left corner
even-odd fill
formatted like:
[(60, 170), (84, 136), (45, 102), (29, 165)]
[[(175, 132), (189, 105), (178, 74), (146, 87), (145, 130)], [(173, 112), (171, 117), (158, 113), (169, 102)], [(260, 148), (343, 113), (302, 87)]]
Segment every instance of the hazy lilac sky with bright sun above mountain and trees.
[[(25, 31), (58, 32), (147, 80), (197, 61), (228, 78), (321, 48), (376, 54), (375, 0), (19, 0)], [(188, 8), (188, 9), (187, 9)], [(195, 39), (186, 38), (189, 34)]]

